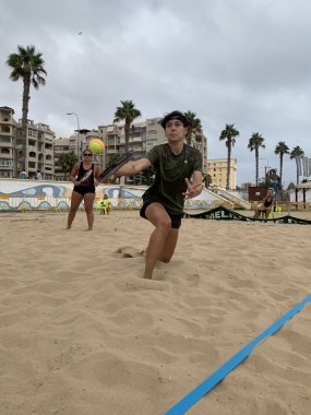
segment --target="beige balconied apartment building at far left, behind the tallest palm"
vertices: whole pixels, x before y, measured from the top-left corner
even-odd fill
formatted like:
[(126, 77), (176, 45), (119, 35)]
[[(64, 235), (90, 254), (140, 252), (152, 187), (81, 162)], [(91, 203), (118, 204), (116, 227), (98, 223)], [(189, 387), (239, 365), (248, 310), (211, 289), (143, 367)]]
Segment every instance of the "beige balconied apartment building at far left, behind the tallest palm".
[[(14, 109), (0, 107), (0, 177), (20, 177), (22, 171), (22, 119), (15, 121)], [(49, 126), (27, 120), (25, 170), (29, 178), (40, 170), (43, 179), (53, 179), (55, 133)]]

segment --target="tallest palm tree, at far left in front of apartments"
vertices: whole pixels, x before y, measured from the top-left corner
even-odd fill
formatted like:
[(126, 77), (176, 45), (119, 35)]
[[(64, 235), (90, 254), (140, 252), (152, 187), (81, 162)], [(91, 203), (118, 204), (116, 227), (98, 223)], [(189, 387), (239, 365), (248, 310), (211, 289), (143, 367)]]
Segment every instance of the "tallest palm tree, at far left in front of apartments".
[(29, 104), (29, 91), (31, 84), (35, 90), (39, 88), (39, 85), (45, 85), (46, 80), (41, 76), (47, 75), (44, 69), (44, 59), (41, 52), (37, 52), (35, 46), (29, 45), (24, 48), (17, 46), (17, 54), (10, 54), (5, 64), (13, 69), (10, 73), (11, 81), (19, 81), (23, 79), (23, 108), (22, 108), (22, 167), (26, 168), (26, 145), (27, 145), (27, 117), (28, 117), (28, 104)]

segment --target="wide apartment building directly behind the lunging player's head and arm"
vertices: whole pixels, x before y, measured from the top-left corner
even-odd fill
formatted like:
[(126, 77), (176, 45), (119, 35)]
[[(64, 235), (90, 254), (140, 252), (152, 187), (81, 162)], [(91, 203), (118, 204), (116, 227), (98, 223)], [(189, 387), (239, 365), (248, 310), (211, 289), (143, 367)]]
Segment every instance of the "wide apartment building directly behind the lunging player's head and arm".
[[(133, 122), (130, 128), (129, 147), (135, 150), (135, 157), (144, 156), (154, 145), (167, 143), (165, 131), (159, 124), (162, 118), (146, 119), (142, 122)], [(122, 155), (125, 152), (124, 124), (101, 124), (97, 130), (98, 139), (106, 146), (106, 151), (99, 156), (99, 165), (103, 168), (109, 164), (112, 154)], [(207, 171), (207, 139), (203, 132), (192, 133), (191, 145), (200, 150), (203, 158), (203, 171)]]

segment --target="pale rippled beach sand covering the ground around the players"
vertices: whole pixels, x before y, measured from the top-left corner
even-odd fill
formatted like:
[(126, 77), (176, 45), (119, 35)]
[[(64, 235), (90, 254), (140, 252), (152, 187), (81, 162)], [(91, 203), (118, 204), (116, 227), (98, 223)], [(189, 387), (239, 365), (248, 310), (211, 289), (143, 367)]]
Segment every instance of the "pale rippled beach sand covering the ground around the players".
[[(311, 294), (311, 226), (183, 220), (144, 281), (137, 212), (65, 220), (0, 215), (1, 415), (164, 414)], [(187, 414), (310, 407), (311, 304)]]

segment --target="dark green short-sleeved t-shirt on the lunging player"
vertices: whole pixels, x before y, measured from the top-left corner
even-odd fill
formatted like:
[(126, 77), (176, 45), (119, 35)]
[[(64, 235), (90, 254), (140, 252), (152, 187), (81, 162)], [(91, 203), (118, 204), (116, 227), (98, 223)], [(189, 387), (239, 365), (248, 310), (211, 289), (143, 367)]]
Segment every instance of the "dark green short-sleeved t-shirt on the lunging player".
[(190, 180), (193, 171), (202, 171), (202, 154), (198, 149), (183, 144), (180, 154), (175, 155), (168, 144), (155, 145), (145, 158), (155, 168), (153, 185), (143, 194), (144, 202), (158, 201), (168, 213), (183, 211), (183, 195), (187, 191), (184, 179)]

